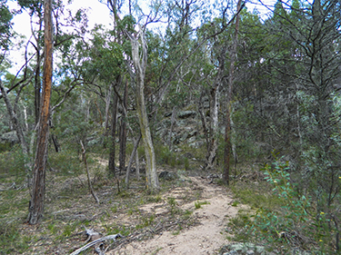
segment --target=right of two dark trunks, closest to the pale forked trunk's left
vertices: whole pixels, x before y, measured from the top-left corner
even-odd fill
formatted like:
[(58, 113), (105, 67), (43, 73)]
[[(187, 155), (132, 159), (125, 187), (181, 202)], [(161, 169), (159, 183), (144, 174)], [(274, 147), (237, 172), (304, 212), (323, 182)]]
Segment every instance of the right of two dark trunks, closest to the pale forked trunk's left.
[(119, 169), (122, 172), (125, 169), (125, 148), (126, 148), (126, 108), (128, 101), (128, 81), (125, 82), (125, 93), (123, 96), (122, 107), (125, 109), (122, 113), (121, 127), (120, 127), (120, 155), (119, 155)]

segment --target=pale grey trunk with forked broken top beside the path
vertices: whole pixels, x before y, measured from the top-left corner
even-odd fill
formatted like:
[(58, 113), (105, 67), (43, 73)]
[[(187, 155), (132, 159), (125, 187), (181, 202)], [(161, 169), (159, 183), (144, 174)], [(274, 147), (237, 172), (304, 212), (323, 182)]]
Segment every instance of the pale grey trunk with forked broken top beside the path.
[(155, 151), (152, 141), (152, 135), (150, 133), (148, 115), (145, 108), (145, 67), (147, 64), (147, 45), (145, 42), (145, 34), (140, 27), (139, 36), (141, 37), (142, 43), (142, 60), (139, 56), (139, 43), (131, 35), (127, 34), (132, 43), (132, 56), (135, 67), (135, 84), (136, 84), (136, 108), (138, 121), (140, 123), (140, 129), (142, 134), (142, 140), (145, 146), (145, 161), (146, 161), (146, 185), (149, 190), (159, 189), (159, 182), (156, 173), (156, 160)]

